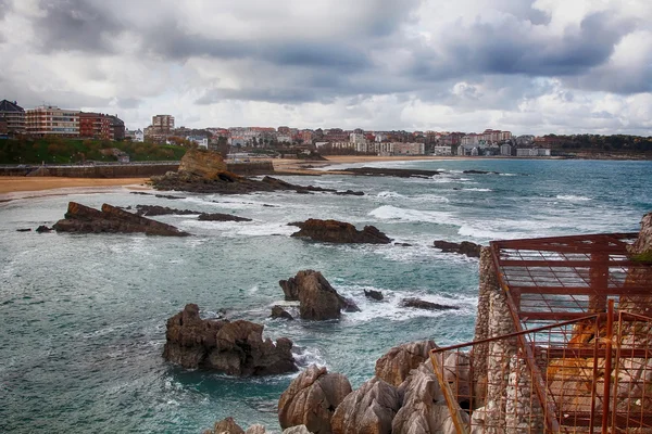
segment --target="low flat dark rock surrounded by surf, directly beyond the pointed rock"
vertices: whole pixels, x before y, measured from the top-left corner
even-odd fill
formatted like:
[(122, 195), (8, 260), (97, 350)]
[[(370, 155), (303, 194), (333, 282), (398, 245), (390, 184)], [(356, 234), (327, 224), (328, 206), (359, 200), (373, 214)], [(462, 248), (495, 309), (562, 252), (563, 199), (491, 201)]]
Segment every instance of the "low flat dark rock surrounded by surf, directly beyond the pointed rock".
[(338, 220), (311, 218), (301, 224), (300, 229), (299, 232), (292, 233), (292, 237), (310, 238), (326, 243), (389, 244), (391, 242), (374, 226), (365, 226), (359, 231), (353, 225)]

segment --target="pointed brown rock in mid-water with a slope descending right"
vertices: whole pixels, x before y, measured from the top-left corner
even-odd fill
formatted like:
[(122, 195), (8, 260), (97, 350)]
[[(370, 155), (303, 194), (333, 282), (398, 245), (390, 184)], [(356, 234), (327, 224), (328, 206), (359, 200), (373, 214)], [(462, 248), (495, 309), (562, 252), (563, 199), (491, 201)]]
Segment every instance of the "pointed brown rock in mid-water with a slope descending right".
[(303, 270), (288, 280), (278, 282), (286, 301), (299, 301), (301, 319), (337, 319), (340, 311), (358, 311), (358, 306), (337, 293), (319, 271)]

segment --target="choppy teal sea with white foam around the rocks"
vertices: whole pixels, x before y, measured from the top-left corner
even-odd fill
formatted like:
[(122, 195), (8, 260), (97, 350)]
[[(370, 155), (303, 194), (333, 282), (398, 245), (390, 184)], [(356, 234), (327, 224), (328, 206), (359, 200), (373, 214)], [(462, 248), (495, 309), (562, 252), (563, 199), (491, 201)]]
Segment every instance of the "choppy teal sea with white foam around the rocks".
[[(652, 210), (652, 162), (466, 159), (344, 167), (441, 170), (430, 178), (286, 176), (292, 183), (358, 190), (364, 196), (292, 192), (249, 195), (131, 194), (124, 188), (0, 204), (0, 432), (199, 433), (231, 416), (244, 429), (280, 432), (279, 395), (297, 374), (230, 378), (162, 358), (165, 321), (196, 303), (287, 336), (304, 369), (346, 374), (359, 387), (392, 346), (419, 340), (473, 340), (478, 260), (432, 247), (473, 241), (638, 231)], [(465, 174), (465, 170), (498, 174)], [(155, 204), (227, 213), (250, 222), (156, 219), (192, 233), (38, 234), (63, 218), (68, 201), (100, 207)], [(335, 245), (291, 238), (308, 218), (376, 226), (404, 245)], [(32, 232), (17, 229), (32, 228)], [(321, 271), (360, 306), (338, 321), (271, 319), (278, 285)], [(375, 302), (364, 290), (380, 291)], [(405, 297), (459, 307), (426, 311)]]

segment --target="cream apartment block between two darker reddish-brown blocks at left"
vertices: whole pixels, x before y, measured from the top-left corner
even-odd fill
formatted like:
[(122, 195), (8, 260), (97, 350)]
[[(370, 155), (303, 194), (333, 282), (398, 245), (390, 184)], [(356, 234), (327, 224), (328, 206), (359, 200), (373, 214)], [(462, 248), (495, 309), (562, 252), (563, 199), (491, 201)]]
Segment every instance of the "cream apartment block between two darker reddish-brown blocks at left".
[(33, 136), (79, 137), (79, 112), (41, 105), (25, 114), (26, 132)]

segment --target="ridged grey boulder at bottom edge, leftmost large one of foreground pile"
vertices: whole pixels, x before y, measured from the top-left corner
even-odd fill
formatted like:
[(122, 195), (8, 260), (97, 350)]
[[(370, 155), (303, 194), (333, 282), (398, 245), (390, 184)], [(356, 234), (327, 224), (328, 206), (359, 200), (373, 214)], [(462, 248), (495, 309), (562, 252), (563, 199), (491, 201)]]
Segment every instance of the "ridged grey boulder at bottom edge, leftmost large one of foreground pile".
[(350, 393), (351, 384), (344, 375), (311, 365), (280, 395), (280, 426), (285, 430), (303, 424), (312, 433), (330, 434), (330, 418)]

